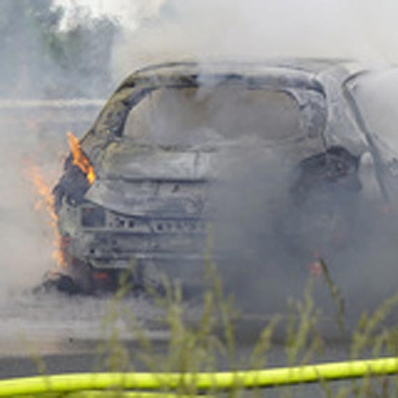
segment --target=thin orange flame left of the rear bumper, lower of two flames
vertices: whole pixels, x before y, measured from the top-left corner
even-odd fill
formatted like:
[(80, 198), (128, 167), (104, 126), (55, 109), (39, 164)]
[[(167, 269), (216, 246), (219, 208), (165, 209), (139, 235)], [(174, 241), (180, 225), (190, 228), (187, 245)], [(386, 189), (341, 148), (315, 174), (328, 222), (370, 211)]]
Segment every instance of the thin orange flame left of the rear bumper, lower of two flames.
[(58, 265), (64, 267), (66, 265), (66, 258), (62, 247), (63, 239), (61, 235), (59, 235), (57, 228), (58, 217), (54, 211), (54, 196), (52, 195), (52, 190), (50, 185), (45, 182), (37, 165), (29, 165), (28, 175), (40, 195), (40, 199), (35, 203), (35, 209), (40, 210), (44, 207), (47, 214), (50, 215), (50, 226), (54, 233), (54, 240), (52, 242), (54, 251), (52, 252), (52, 258), (57, 261)]

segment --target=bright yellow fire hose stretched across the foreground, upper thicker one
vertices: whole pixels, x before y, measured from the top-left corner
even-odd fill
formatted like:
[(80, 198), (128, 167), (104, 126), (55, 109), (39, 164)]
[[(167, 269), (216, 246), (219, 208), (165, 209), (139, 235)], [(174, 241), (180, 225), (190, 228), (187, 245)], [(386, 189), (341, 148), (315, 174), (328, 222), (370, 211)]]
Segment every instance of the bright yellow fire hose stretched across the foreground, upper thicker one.
[[(300, 367), (283, 367), (265, 370), (223, 371), (205, 373), (88, 373), (61, 374), (11, 378), (0, 381), (0, 397), (37, 395), (48, 392), (67, 393), (87, 390), (198, 392), (268, 388), (277, 385), (316, 383), (364, 376), (381, 376), (398, 373), (398, 358), (355, 360), (312, 364)], [(136, 392), (138, 391), (138, 392)], [(145, 397), (144, 395), (141, 395)], [(152, 395), (153, 396), (153, 395)]]

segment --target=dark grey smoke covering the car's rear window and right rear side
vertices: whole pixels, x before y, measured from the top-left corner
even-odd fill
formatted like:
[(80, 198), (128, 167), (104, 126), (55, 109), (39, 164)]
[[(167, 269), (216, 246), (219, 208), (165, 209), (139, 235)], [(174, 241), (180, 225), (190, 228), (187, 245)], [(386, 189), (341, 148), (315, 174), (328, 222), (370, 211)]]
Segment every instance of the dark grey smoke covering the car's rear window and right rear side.
[[(394, 293), (389, 237), (396, 218), (385, 209), (369, 154), (359, 159), (338, 147), (324, 154), (322, 145), (300, 144), (304, 115), (288, 94), (246, 90), (242, 82), (225, 87), (205, 73), (200, 82), (198, 89), (149, 94), (131, 112), (125, 134), (135, 144), (175, 147), (175, 161), (187, 147), (197, 154), (196, 167), (212, 181), (205, 205), (212, 256), (237, 306), (283, 311), (286, 296), (301, 297), (311, 273), (320, 272), (318, 258), (350, 314)], [(161, 159), (156, 167), (167, 175), (174, 161)], [(193, 165), (180, 167), (184, 175)], [(178, 265), (173, 276), (189, 283), (195, 273), (188, 268)], [(333, 312), (322, 278), (316, 289), (317, 304)]]

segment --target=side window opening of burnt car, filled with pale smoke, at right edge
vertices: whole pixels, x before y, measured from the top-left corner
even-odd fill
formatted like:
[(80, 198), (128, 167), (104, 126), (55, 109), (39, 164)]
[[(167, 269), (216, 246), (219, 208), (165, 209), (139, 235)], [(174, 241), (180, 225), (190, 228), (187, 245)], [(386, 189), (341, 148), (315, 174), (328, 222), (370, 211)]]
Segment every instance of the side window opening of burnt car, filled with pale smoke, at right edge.
[(398, 71), (360, 75), (349, 83), (367, 130), (398, 152)]

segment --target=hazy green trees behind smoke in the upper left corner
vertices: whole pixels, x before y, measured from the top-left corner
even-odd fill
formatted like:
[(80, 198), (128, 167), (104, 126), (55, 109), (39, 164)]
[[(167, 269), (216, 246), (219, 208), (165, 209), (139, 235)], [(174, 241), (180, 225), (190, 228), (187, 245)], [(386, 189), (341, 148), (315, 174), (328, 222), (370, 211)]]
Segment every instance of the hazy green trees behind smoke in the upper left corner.
[(70, 98), (108, 96), (117, 24), (89, 20), (60, 30), (64, 10), (52, 0), (0, 1), (0, 96)]

